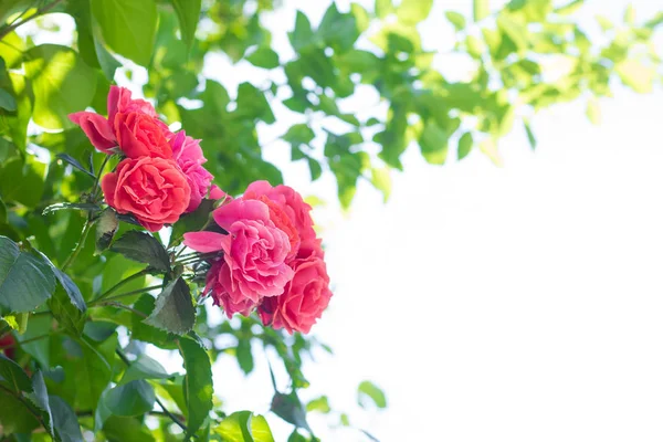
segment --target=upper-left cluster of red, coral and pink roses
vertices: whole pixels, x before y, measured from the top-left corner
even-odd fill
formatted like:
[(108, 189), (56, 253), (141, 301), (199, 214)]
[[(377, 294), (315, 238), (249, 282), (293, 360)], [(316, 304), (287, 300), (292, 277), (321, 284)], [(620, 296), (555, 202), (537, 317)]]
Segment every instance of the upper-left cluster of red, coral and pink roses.
[(77, 112), (70, 119), (97, 150), (125, 157), (103, 177), (104, 198), (118, 213), (133, 214), (151, 232), (196, 210), (208, 193), (212, 198), (221, 193), (202, 166), (207, 159), (200, 140), (183, 130), (171, 133), (151, 104), (133, 99), (124, 87), (110, 87), (107, 118)]

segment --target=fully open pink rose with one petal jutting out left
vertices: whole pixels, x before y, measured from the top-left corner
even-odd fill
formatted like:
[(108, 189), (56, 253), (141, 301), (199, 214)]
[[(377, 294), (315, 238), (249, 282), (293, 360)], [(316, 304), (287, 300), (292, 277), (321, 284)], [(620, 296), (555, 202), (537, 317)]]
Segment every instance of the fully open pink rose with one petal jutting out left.
[(208, 273), (208, 288), (228, 308), (227, 315), (283, 293), (293, 276), (285, 264), (290, 241), (271, 221), (267, 204), (238, 199), (215, 209), (212, 215), (228, 234), (189, 232), (185, 233), (185, 244), (201, 253), (223, 252), (223, 262)]

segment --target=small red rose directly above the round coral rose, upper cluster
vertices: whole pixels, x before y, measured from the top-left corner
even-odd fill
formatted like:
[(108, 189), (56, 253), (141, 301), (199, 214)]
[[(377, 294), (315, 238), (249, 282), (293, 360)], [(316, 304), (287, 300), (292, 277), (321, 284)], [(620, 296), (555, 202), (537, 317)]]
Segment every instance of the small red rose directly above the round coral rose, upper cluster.
[(115, 114), (115, 136), (129, 158), (172, 158), (168, 128), (161, 120), (139, 112)]

